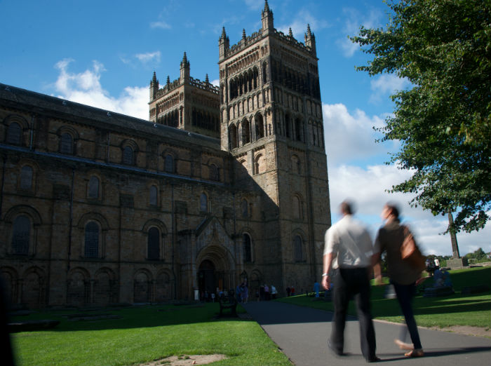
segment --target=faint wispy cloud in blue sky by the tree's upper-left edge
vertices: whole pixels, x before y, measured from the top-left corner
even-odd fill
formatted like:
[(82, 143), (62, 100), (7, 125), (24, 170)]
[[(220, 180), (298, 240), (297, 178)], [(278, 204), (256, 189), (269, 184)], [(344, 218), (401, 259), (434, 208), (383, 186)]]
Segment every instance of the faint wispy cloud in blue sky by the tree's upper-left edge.
[(356, 36), (362, 25), (365, 28), (379, 27), (383, 14), (379, 9), (372, 9), (370, 12), (362, 14), (358, 9), (354, 8), (344, 8), (343, 13), (346, 15), (344, 26), (342, 27), (343, 35), (336, 43), (342, 49), (344, 57), (351, 57), (359, 46), (351, 42), (348, 37)]

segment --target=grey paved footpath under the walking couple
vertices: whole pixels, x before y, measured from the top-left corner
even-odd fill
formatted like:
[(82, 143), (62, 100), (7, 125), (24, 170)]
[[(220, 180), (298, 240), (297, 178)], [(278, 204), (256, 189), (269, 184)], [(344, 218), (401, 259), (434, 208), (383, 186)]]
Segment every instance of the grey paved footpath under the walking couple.
[[(297, 366), (365, 364), (356, 318), (349, 318), (344, 331), (344, 351), (348, 355), (337, 357), (327, 348), (332, 313), (279, 301), (250, 302), (243, 307)], [(387, 362), (387, 365), (491, 365), (489, 338), (419, 328), (425, 355), (423, 358), (406, 358), (394, 344), (402, 325), (381, 321), (374, 323), (377, 356), (382, 359), (380, 362)]]

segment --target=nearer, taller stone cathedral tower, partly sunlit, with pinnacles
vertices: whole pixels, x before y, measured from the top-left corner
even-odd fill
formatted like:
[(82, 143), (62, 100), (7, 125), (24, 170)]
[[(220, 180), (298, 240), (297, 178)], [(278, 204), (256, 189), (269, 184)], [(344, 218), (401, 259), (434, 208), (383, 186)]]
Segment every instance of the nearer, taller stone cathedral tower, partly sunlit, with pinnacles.
[(307, 25), (301, 43), (279, 32), (265, 1), (262, 28), (233, 46), (223, 28), (219, 54), (222, 150), (235, 158), (237, 188), (262, 197), (255, 268), (283, 289), (311, 289), (330, 226), (314, 33)]

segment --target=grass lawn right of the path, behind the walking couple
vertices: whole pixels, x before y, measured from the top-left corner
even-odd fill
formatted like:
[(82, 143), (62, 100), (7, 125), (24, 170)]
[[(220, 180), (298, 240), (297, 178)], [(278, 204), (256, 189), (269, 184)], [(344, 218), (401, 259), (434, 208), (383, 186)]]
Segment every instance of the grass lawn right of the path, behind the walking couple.
[[(415, 318), (423, 327), (451, 327), (464, 325), (471, 327), (491, 326), (491, 294), (462, 295), (462, 288), (471, 285), (490, 285), (491, 268), (477, 267), (449, 271), (455, 294), (448, 297), (422, 297), (418, 295), (413, 301)], [(387, 280), (386, 280), (387, 281)], [(422, 285), (431, 287), (433, 280), (427, 279)], [(397, 299), (384, 299), (385, 286), (372, 286), (372, 316), (379, 320), (403, 323), (403, 316)], [(287, 301), (301, 306), (333, 311), (332, 302), (315, 301), (312, 297), (298, 295), (286, 297)], [(356, 315), (354, 301), (350, 302), (349, 313)]]

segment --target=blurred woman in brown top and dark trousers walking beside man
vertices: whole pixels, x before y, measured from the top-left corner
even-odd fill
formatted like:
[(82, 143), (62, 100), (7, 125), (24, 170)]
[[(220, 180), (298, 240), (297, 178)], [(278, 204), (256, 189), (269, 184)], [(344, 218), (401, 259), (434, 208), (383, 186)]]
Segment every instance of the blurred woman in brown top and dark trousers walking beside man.
[(407, 226), (401, 225), (399, 221), (399, 210), (396, 205), (386, 203), (382, 209), (382, 219), (386, 220), (385, 225), (379, 229), (377, 239), (375, 240), (375, 252), (377, 264), (375, 265), (375, 278), (381, 281), (380, 273), (380, 256), (386, 252), (387, 271), (389, 278), (396, 290), (397, 299), (401, 310), (404, 314), (405, 323), (412, 340), (412, 345), (406, 344), (400, 339), (395, 342), (401, 349), (408, 350), (405, 353), (408, 357), (422, 357), (424, 355), (419, 332), (417, 330), (415, 316), (412, 312), (412, 297), (415, 294), (415, 283), (421, 276), (422, 270), (403, 259), (401, 246), (406, 236), (409, 234)]

